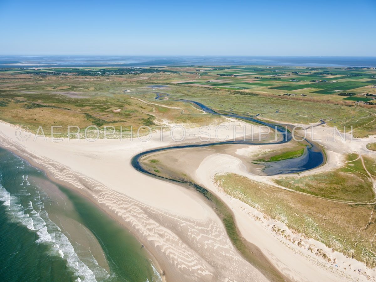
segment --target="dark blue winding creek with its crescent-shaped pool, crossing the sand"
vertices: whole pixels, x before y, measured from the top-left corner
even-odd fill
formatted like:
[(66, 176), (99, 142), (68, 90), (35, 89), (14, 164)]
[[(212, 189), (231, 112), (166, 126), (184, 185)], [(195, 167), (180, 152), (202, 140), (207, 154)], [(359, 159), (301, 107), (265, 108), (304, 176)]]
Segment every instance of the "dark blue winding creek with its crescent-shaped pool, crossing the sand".
[[(165, 100), (167, 99), (167, 96), (169, 96), (169, 94), (158, 92), (156, 93), (155, 99)], [(258, 249), (258, 247), (249, 243), (247, 240), (241, 237), (240, 232), (234, 221), (232, 211), (222, 200), (220, 200), (217, 196), (212, 194), (206, 188), (200, 185), (197, 185), (197, 183), (190, 182), (184, 179), (177, 179), (173, 177), (167, 177), (167, 176), (165, 177), (165, 176), (157, 175), (153, 173), (152, 171), (149, 171), (146, 168), (144, 168), (140, 163), (140, 159), (152, 153), (166, 151), (166, 150), (182, 149), (182, 148), (208, 147), (208, 146), (218, 146), (218, 145), (223, 145), (223, 144), (243, 144), (243, 145), (244, 144), (249, 144), (249, 145), (283, 144), (283, 143), (287, 143), (291, 141), (293, 137), (291, 132), (287, 130), (287, 127), (284, 127), (281, 124), (272, 124), (266, 121), (256, 119), (252, 116), (238, 115), (232, 112), (227, 112), (226, 114), (222, 114), (220, 112), (214, 111), (213, 109), (209, 108), (208, 106), (203, 105), (200, 102), (196, 102), (193, 100), (176, 99), (176, 98), (171, 99), (170, 97), (168, 97), (168, 100), (170, 101), (172, 100), (176, 102), (191, 103), (197, 108), (209, 114), (220, 115), (223, 117), (230, 117), (230, 118), (238, 118), (241, 120), (246, 120), (246, 121), (260, 124), (261, 126), (267, 126), (270, 129), (276, 130), (276, 132), (278, 132), (281, 136), (283, 136), (282, 138), (280, 138), (279, 141), (266, 142), (266, 143), (261, 142), (261, 140), (259, 141), (231, 140), (231, 141), (214, 142), (214, 143), (199, 143), (199, 144), (186, 144), (186, 145), (179, 145), (179, 146), (162, 147), (162, 148), (147, 150), (147, 151), (138, 153), (132, 158), (131, 164), (136, 170), (142, 173), (146, 173), (152, 177), (157, 177), (159, 179), (164, 179), (166, 181), (172, 181), (175, 183), (177, 182), (183, 186), (186, 186), (188, 188), (194, 189), (195, 191), (199, 192), (203, 197), (205, 197), (208, 204), (214, 209), (214, 211), (221, 218), (230, 240), (232, 241), (233, 245), (240, 251), (243, 257), (247, 261), (249, 261), (251, 264), (253, 264), (256, 268), (258, 268), (265, 275), (265, 277), (267, 277), (269, 280), (271, 281), (286, 280), (287, 277), (284, 277), (276, 268), (274, 268), (273, 265), (271, 265), (271, 263), (265, 258), (265, 256), (262, 254), (261, 250)], [(282, 174), (282, 173), (284, 174), (285, 173), (297, 173), (297, 172), (310, 170), (310, 169), (316, 168), (324, 164), (326, 161), (326, 158), (325, 158), (323, 150), (312, 141), (309, 141), (309, 140), (306, 140), (306, 141), (309, 143), (309, 146), (306, 147), (302, 156), (298, 158), (293, 158), (293, 159), (285, 159), (282, 161), (264, 163), (265, 168), (263, 172), (267, 175), (276, 175), (276, 174)]]

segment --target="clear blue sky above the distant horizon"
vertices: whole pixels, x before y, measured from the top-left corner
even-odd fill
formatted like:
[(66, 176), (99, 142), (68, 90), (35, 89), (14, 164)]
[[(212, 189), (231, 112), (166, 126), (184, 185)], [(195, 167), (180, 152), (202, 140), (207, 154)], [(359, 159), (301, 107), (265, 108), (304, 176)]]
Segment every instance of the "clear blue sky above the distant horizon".
[(0, 0), (0, 54), (376, 56), (375, 18), (375, 0)]

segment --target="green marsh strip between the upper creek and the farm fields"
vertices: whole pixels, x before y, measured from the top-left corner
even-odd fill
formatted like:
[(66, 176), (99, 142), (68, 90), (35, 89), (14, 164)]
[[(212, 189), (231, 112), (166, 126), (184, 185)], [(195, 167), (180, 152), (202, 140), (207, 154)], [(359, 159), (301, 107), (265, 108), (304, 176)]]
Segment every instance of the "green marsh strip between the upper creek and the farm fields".
[[(171, 86), (173, 87), (173, 86)], [(196, 100), (218, 112), (231, 109), (236, 114), (259, 115), (258, 118), (279, 121), (281, 123), (318, 123), (324, 120), (329, 126), (337, 126), (350, 131), (353, 126), (355, 137), (376, 134), (376, 108), (349, 107), (318, 103), (317, 101), (295, 101), (275, 96), (262, 96), (240, 91), (224, 89), (197, 89), (180, 85), (173, 88), (174, 97)], [(244, 95), (251, 94), (251, 95)]]

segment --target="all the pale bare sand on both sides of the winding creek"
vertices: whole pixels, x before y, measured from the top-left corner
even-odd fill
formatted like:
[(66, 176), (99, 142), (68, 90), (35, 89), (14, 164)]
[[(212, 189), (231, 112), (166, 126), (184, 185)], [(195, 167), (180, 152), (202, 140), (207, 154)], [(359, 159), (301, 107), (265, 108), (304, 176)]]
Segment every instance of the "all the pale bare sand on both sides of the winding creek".
[[(230, 119), (225, 123), (227, 126), (235, 124), (245, 125), (242, 121)], [(323, 126), (323, 129), (317, 132), (324, 135), (327, 134), (327, 130)], [(187, 140), (197, 142), (198, 129), (187, 129), (187, 136), (190, 134), (194, 134), (195, 137), (186, 139), (185, 143)], [(15, 138), (15, 126), (8, 123), (0, 124), (2, 147), (44, 170), (56, 182), (79, 190), (117, 218), (153, 255), (160, 267), (159, 271), (165, 275), (164, 279), (168, 281), (267, 280), (233, 247), (220, 218), (198, 194), (180, 185), (139, 173), (130, 165), (130, 159), (136, 153), (156, 147), (176, 145), (169, 136), (168, 132), (164, 133), (162, 142), (159, 134), (153, 135), (148, 142), (138, 139), (133, 141), (99, 139), (96, 142), (64, 139), (61, 142), (53, 142), (49, 138), (44, 141), (42, 137), (37, 137), (36, 141), (33, 141), (34, 136), (27, 141), (18, 141)], [(366, 142), (372, 138), (373, 136), (351, 146), (356, 146), (354, 150), (363, 149)], [(269, 145), (249, 146), (248, 149), (241, 149), (237, 154), (239, 156), (251, 154), (262, 149), (262, 146)], [(347, 145), (345, 143), (342, 146)], [(338, 146), (337, 148), (343, 150)], [(339, 159), (335, 156), (336, 152), (329, 153), (327, 164), (315, 171), (339, 165)], [(226, 154), (206, 155), (198, 164), (191, 169), (193, 179), (220, 197), (232, 209), (241, 235), (259, 247), (287, 279), (366, 280), (365, 276), (350, 270), (338, 271), (306, 249), (278, 237), (271, 230), (271, 226), (282, 223), (263, 218), (252, 207), (218, 190), (213, 181), (215, 174), (227, 172), (264, 182), (270, 182), (270, 177), (250, 174), (240, 159)], [(263, 220), (256, 220), (255, 215)], [(286, 226), (284, 228), (288, 230)], [(311, 239), (306, 244), (325, 249), (323, 244)], [(346, 258), (338, 252), (334, 255), (337, 256), (337, 261), (366, 270), (365, 265), (355, 259)], [(374, 275), (374, 270), (367, 271)]]

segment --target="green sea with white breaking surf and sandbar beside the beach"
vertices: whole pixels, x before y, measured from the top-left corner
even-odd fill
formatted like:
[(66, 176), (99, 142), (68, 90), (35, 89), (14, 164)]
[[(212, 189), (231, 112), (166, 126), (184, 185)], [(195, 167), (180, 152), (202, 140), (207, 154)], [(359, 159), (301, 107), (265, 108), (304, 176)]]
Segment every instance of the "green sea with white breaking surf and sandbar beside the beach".
[(161, 281), (129, 230), (4, 149), (0, 265), (0, 281)]

